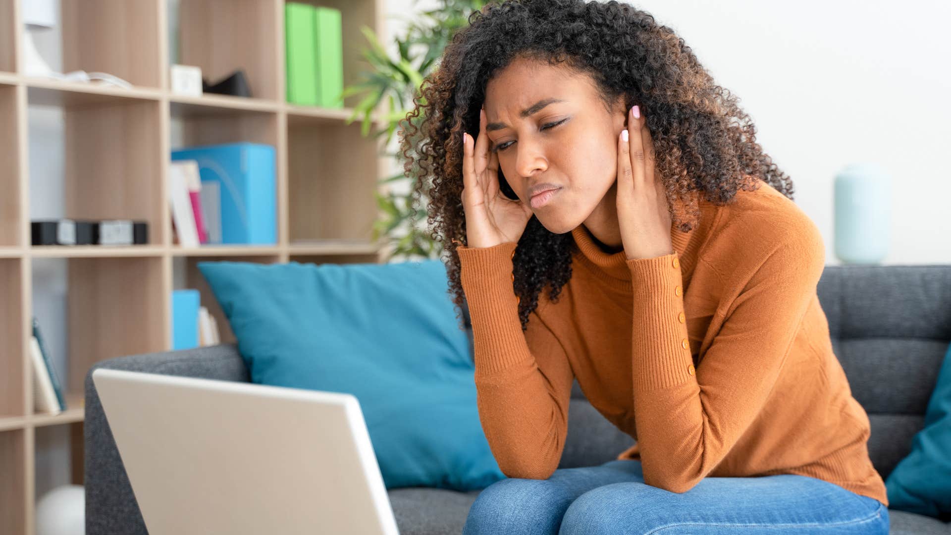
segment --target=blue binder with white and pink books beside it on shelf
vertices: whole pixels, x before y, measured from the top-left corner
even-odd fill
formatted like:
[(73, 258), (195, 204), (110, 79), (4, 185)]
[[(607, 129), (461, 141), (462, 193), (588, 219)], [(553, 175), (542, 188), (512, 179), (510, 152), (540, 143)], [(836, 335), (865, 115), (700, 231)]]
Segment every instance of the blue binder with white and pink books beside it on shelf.
[(226, 143), (173, 150), (171, 159), (168, 203), (177, 244), (277, 243), (273, 147)]

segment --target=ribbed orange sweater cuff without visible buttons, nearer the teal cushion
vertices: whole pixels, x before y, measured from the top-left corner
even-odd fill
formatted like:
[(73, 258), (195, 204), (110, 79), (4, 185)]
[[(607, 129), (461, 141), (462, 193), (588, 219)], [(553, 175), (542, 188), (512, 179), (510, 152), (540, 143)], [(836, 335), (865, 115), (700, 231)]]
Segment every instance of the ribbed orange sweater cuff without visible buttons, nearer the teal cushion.
[(479, 376), (534, 362), (518, 319), (512, 285), (516, 247), (514, 242), (505, 242), (491, 248), (456, 248)]

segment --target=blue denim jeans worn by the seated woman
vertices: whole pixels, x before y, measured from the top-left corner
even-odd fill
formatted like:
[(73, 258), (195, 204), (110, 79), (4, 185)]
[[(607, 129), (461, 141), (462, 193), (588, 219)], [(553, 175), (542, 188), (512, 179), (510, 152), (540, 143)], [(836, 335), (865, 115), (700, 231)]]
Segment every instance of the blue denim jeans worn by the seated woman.
[(872, 535), (888, 525), (878, 500), (816, 478), (707, 477), (678, 494), (644, 483), (640, 461), (613, 460), (499, 480), (476, 497), (462, 534)]

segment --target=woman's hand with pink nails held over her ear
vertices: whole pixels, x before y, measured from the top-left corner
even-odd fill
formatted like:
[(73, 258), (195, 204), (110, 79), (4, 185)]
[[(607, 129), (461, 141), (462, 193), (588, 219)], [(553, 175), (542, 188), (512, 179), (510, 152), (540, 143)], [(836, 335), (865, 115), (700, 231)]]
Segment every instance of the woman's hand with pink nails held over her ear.
[[(628, 110), (629, 140), (618, 136), (617, 220), (628, 260), (672, 254), (667, 191), (654, 176), (653, 143), (643, 115)], [(628, 131), (628, 130), (625, 130)]]

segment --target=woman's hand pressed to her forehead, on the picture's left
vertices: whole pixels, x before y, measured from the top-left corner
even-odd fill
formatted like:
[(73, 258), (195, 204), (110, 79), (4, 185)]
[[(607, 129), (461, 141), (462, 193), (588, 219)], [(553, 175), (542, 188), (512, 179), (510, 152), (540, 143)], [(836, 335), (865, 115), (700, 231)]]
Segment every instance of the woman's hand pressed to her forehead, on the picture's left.
[(485, 123), (485, 109), (481, 109), (475, 146), (469, 134), (464, 134), (462, 142), (462, 208), (470, 248), (491, 248), (506, 242), (517, 244), (532, 219), (532, 207), (501, 194), (498, 154), (489, 151)]

